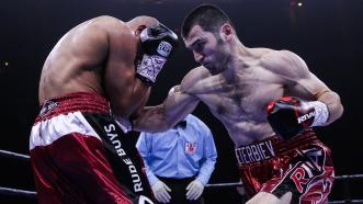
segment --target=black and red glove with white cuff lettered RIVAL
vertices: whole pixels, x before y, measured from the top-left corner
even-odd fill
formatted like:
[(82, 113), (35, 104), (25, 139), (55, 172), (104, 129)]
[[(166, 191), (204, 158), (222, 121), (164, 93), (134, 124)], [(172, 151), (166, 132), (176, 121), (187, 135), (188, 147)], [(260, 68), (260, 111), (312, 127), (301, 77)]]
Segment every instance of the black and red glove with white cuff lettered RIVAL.
[(270, 102), (266, 113), (272, 129), (284, 139), (298, 135), (308, 127), (325, 125), (329, 117), (325, 103), (306, 102), (294, 97)]

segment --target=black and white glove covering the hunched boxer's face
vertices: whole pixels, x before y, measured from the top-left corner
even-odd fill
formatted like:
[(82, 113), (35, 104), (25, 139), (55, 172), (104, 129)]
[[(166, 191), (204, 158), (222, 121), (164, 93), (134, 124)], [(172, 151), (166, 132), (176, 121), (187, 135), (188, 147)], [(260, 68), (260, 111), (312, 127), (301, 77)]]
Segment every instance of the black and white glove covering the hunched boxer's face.
[(147, 86), (152, 86), (168, 57), (178, 45), (178, 36), (161, 23), (143, 30), (140, 33), (144, 55), (136, 66), (136, 76)]

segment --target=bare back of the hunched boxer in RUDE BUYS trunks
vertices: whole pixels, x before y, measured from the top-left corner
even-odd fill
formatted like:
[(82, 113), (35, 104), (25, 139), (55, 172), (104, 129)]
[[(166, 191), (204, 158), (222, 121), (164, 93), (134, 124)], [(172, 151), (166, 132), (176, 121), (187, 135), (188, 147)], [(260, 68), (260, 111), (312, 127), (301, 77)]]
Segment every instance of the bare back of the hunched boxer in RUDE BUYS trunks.
[(48, 55), (41, 77), (39, 103), (65, 93), (91, 91), (104, 94), (101, 72), (106, 60), (106, 37), (97, 20), (87, 21), (65, 34)]

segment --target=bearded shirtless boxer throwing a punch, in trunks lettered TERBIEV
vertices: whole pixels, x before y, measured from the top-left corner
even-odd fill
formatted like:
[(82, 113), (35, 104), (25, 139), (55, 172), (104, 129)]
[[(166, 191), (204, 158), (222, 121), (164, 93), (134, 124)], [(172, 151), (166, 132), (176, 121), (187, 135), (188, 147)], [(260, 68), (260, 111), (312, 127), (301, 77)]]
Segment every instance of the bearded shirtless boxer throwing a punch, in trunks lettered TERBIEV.
[(327, 202), (334, 177), (330, 150), (310, 127), (342, 115), (339, 95), (296, 54), (246, 47), (214, 5), (189, 13), (182, 37), (202, 66), (161, 105), (145, 109), (135, 128), (170, 128), (202, 101), (235, 143), (248, 203)]

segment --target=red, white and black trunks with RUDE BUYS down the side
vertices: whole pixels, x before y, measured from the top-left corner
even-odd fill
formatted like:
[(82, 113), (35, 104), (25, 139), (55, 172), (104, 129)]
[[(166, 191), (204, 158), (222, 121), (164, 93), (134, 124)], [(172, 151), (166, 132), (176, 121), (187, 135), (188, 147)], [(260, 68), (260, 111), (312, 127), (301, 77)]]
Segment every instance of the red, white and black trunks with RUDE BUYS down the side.
[(125, 131), (101, 95), (46, 101), (30, 138), (38, 202), (152, 203), (143, 160)]

